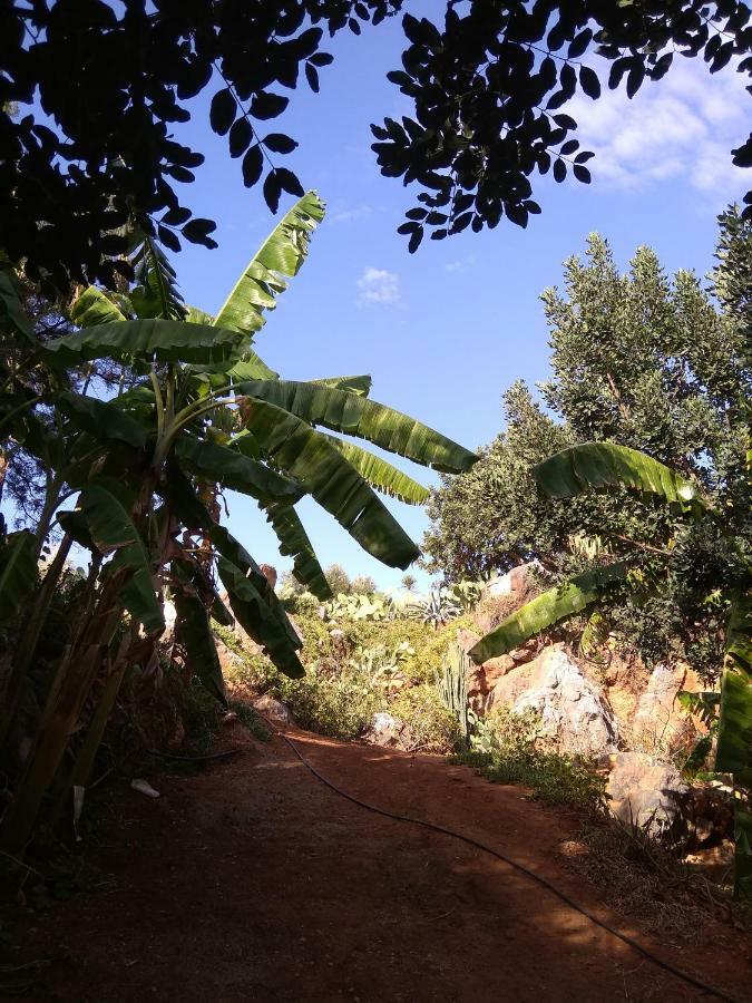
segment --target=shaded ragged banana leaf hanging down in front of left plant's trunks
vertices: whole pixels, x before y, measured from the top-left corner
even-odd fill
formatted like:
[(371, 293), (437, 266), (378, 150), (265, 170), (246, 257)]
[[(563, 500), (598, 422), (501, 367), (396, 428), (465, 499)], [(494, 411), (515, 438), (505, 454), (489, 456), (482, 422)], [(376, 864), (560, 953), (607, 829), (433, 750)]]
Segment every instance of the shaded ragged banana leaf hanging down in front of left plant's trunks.
[(130, 516), (110, 490), (89, 484), (81, 491), (78, 507), (86, 518), (97, 549), (114, 553), (110, 572), (128, 568), (130, 575), (121, 590), (121, 598), (130, 615), (144, 624), (147, 634), (164, 631), (165, 620), (157, 601), (149, 558)]

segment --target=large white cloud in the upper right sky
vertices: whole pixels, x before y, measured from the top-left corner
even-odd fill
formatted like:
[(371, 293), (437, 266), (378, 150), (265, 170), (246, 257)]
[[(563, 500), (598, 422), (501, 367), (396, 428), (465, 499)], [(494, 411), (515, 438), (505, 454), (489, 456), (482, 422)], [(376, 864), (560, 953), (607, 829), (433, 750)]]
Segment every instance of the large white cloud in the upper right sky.
[(594, 178), (614, 188), (641, 191), (668, 178), (684, 178), (720, 199), (745, 185), (731, 163), (731, 149), (746, 138), (749, 101), (745, 77), (732, 66), (711, 75), (697, 59), (680, 59), (657, 84), (646, 80), (629, 100), (623, 86), (605, 89), (597, 101), (578, 94), (563, 109), (578, 123)]

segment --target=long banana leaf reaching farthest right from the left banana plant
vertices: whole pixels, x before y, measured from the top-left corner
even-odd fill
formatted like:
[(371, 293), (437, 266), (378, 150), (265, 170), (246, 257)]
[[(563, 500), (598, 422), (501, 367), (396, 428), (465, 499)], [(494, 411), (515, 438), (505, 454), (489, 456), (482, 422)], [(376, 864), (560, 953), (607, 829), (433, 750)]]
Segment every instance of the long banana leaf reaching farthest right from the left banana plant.
[(243, 383), (236, 392), (284, 408), (311, 425), (368, 439), (389, 452), (447, 474), (469, 470), (478, 458), (408, 415), (332, 387), (294, 380), (257, 380)]

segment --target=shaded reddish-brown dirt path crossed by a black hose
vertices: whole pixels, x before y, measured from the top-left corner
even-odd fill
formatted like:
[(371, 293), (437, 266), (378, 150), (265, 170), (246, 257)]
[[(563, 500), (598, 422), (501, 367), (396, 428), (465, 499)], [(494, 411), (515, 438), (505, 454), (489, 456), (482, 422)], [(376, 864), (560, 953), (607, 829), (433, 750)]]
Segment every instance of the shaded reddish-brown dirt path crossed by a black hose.
[[(352, 793), (488, 843), (639, 936), (561, 866), (563, 812), (438, 757), (296, 740)], [(88, 854), (111, 876), (105, 890), (23, 912), (20, 960), (68, 960), (17, 1000), (709, 999), (488, 855), (339, 798), (280, 739), (155, 783), (158, 801), (125, 787), (101, 797)], [(749, 939), (721, 924), (709, 935), (713, 948), (643, 943), (752, 1000)]]

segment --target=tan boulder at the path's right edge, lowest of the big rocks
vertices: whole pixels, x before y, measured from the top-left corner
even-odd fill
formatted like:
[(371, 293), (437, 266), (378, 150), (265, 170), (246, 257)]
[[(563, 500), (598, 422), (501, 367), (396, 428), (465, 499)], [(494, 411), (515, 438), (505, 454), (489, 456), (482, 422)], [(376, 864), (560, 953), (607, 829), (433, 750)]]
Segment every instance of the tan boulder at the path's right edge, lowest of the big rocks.
[(673, 763), (646, 752), (617, 752), (603, 765), (611, 770), (606, 796), (617, 818), (654, 836), (673, 825), (687, 791)]

